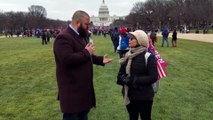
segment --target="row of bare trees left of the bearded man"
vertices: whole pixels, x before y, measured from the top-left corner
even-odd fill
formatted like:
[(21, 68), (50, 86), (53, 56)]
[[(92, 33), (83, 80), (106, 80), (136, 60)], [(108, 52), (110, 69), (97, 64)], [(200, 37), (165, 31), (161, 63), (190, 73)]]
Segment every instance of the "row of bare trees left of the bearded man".
[(46, 18), (47, 12), (44, 7), (32, 5), (29, 12), (3, 12), (0, 10), (0, 32), (8, 31), (20, 33), (25, 30), (64, 28), (67, 21)]

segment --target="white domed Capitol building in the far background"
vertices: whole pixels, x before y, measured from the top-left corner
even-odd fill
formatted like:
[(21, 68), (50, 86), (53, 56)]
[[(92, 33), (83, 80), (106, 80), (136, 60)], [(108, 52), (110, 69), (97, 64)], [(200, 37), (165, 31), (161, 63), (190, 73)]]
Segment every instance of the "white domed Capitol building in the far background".
[(105, 4), (105, 1), (103, 0), (102, 5), (99, 8), (98, 16), (92, 15), (90, 17), (90, 21), (93, 23), (95, 26), (110, 26), (111, 23), (113, 23), (114, 20), (118, 19), (124, 19), (124, 17), (119, 17), (119, 16), (110, 16), (109, 15), (109, 9), (107, 5)]

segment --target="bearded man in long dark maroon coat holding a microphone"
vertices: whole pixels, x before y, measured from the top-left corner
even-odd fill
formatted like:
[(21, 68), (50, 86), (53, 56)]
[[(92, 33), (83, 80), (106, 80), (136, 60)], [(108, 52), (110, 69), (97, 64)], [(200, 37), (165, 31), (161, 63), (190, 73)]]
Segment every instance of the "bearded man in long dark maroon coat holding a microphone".
[(58, 99), (63, 120), (88, 120), (89, 110), (95, 106), (93, 64), (112, 61), (94, 55), (93, 43), (88, 41), (89, 15), (76, 11), (72, 22), (60, 32), (54, 42)]

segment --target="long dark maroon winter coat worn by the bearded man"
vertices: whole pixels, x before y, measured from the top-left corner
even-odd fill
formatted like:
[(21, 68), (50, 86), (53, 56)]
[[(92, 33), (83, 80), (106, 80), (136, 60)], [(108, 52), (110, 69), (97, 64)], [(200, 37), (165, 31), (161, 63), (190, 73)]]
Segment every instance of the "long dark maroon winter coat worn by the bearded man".
[(76, 113), (95, 106), (93, 64), (104, 65), (102, 56), (91, 56), (87, 41), (70, 27), (54, 42), (58, 98), (63, 113)]

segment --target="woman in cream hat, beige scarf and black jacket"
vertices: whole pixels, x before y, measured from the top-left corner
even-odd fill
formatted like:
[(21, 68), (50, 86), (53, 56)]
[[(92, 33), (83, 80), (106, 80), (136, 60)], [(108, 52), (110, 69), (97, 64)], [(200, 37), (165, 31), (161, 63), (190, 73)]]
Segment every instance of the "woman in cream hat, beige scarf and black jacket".
[(154, 55), (145, 62), (148, 36), (142, 30), (130, 32), (130, 50), (120, 59), (121, 67), (117, 84), (122, 85), (124, 104), (129, 120), (151, 120), (154, 90), (152, 84), (158, 79)]

